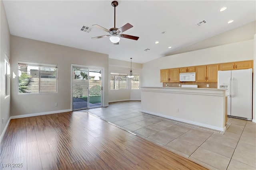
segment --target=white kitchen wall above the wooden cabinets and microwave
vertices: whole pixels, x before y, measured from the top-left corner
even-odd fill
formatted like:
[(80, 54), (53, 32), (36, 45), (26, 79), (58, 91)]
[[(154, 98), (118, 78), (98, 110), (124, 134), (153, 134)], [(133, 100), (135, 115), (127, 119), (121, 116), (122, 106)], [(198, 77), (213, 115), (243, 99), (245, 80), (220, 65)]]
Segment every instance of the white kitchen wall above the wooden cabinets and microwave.
[(254, 40), (161, 57), (142, 65), (142, 86), (162, 87), (160, 69), (254, 59)]

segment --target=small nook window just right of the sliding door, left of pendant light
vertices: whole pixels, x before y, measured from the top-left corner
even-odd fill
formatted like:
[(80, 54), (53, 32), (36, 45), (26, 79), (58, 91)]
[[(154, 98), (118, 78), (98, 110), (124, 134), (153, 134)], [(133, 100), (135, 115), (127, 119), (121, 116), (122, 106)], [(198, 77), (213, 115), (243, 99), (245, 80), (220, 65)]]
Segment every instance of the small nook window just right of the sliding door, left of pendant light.
[(110, 73), (110, 90), (127, 89), (127, 74)]

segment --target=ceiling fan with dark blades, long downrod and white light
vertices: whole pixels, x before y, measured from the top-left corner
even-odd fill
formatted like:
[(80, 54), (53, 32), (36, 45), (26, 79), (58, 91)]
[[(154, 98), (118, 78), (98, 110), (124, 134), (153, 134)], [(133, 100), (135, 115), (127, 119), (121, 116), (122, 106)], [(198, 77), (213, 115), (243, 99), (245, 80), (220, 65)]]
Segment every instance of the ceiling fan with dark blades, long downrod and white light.
[(118, 2), (113, 1), (111, 4), (114, 7), (114, 28), (106, 29), (106, 28), (104, 28), (100, 25), (97, 25), (97, 24), (92, 25), (94, 27), (97, 27), (97, 28), (102, 29), (103, 31), (106, 31), (106, 32), (109, 33), (109, 35), (102, 35), (102, 36), (98, 36), (98, 37), (92, 37), (92, 39), (110, 37), (109, 39), (112, 43), (114, 43), (114, 45), (119, 44), (120, 37), (121, 38), (128, 38), (128, 39), (138, 40), (139, 37), (136, 37), (136, 36), (133, 36), (133, 35), (122, 34), (124, 31), (133, 27), (130, 23), (126, 23), (124, 26), (122, 26), (120, 28), (116, 28), (116, 7), (118, 6)]

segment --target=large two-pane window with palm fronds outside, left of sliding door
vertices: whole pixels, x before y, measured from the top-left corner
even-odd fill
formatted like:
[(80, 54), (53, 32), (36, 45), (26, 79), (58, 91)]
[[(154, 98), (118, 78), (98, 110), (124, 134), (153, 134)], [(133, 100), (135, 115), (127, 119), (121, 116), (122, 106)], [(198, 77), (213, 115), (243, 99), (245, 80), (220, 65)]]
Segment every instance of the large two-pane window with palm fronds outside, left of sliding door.
[(19, 62), (19, 93), (57, 92), (57, 64)]

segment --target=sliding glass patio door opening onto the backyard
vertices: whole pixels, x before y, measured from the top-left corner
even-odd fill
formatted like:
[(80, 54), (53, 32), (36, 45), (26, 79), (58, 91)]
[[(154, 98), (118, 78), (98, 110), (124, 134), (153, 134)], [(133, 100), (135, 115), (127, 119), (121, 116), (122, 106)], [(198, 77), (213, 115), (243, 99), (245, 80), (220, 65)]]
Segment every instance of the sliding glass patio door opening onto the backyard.
[(102, 70), (72, 66), (73, 110), (102, 107)]

